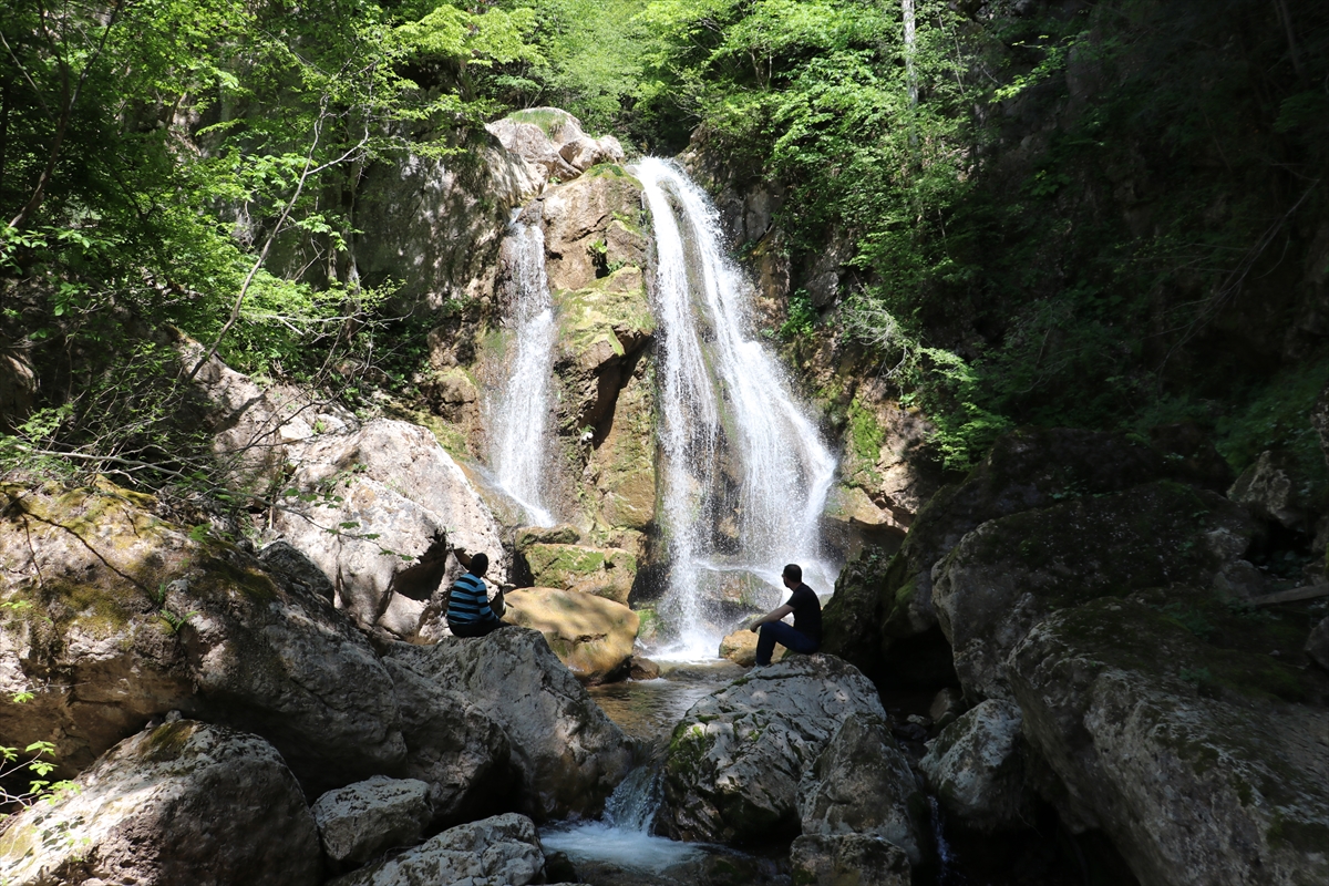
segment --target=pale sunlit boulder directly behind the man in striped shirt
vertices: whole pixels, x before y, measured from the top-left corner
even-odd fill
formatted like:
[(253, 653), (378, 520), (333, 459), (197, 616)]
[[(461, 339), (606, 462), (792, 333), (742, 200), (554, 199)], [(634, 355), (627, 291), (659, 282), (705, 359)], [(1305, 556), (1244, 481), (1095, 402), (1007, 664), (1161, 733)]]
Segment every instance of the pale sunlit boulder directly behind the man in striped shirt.
[(360, 627), (413, 638), (424, 600), (461, 571), (452, 547), (486, 551), (489, 576), (506, 580), (497, 521), (427, 429), (380, 418), (306, 441), (294, 458), (299, 494), (272, 526), (332, 579)]

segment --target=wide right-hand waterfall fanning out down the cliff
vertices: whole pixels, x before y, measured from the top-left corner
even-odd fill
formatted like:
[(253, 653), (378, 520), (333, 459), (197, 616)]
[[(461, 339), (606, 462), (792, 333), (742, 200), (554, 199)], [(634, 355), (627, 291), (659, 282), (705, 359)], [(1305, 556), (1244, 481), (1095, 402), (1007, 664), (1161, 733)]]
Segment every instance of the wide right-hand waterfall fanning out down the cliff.
[[(634, 171), (655, 231), (664, 614), (680, 626), (679, 652), (714, 656), (723, 626), (708, 626), (707, 602), (724, 571), (764, 579), (763, 606), (783, 602), (787, 562), (829, 592), (835, 573), (821, 561), (820, 519), (836, 460), (754, 337), (752, 287), (724, 254), (707, 195), (663, 159)], [(718, 531), (726, 526), (732, 531)]]

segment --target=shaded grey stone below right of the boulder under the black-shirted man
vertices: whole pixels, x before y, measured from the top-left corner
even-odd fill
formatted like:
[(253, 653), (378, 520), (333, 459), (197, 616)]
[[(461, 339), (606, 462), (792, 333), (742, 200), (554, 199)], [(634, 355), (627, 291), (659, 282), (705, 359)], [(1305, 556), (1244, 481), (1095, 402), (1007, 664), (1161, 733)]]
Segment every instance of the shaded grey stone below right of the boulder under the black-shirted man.
[(881, 720), (845, 717), (799, 784), (799, 817), (804, 836), (880, 837), (922, 862), (928, 801)]

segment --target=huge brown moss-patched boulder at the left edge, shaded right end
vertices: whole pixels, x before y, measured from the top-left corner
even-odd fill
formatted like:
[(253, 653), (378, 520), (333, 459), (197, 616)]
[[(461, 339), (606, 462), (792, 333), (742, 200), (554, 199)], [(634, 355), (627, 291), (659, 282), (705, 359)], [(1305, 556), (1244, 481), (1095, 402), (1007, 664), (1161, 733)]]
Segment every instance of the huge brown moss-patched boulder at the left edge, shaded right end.
[[(316, 594), (104, 485), (9, 487), (0, 522), (0, 744), (69, 774), (171, 709), (256, 732), (311, 790), (400, 766), (392, 680)], [(340, 781), (339, 781), (340, 780)]]

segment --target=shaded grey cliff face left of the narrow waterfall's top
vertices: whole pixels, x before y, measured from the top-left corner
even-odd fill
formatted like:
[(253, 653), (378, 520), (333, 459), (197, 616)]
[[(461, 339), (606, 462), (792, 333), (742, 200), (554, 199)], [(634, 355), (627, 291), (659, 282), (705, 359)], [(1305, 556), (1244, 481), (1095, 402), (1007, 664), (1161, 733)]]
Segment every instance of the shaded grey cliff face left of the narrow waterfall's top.
[(488, 299), (509, 215), (545, 183), (489, 133), (460, 146), (465, 162), (408, 154), (371, 166), (359, 189), (356, 226), (373, 232), (356, 243), (360, 276), (368, 286), (400, 280), (403, 307)]

